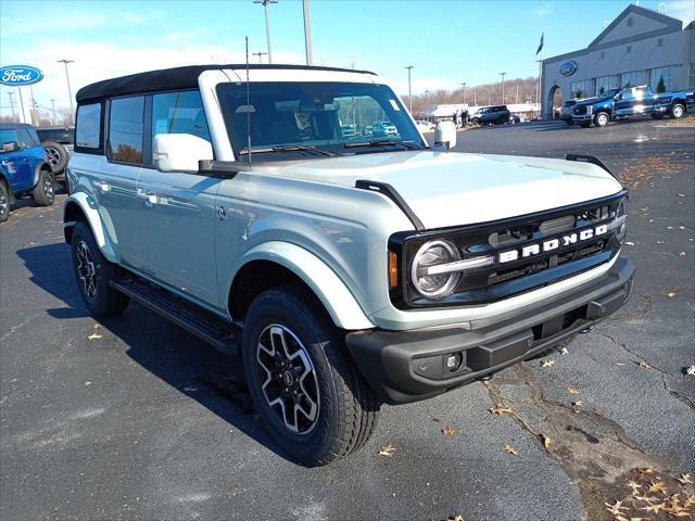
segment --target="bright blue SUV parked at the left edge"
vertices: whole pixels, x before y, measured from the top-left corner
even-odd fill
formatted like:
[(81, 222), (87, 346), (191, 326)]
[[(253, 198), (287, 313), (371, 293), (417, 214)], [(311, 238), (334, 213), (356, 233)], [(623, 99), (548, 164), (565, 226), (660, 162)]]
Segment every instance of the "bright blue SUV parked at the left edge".
[(0, 123), (0, 223), (8, 220), (10, 204), (31, 193), (39, 206), (55, 200), (55, 176), (31, 125)]

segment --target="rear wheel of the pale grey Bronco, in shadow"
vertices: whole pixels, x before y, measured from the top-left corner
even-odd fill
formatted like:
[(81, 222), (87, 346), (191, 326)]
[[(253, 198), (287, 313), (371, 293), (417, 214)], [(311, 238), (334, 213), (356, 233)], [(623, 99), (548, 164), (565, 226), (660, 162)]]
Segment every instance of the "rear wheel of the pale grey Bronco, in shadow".
[[(86, 223), (75, 225), (71, 256), (75, 281), (89, 313), (94, 317), (108, 317), (123, 313), (130, 298), (111, 287), (111, 281), (118, 274), (118, 266), (106, 260), (101, 254), (94, 236)], [(88, 290), (91, 285), (88, 285), (85, 280), (87, 276), (93, 283), (93, 293)]]

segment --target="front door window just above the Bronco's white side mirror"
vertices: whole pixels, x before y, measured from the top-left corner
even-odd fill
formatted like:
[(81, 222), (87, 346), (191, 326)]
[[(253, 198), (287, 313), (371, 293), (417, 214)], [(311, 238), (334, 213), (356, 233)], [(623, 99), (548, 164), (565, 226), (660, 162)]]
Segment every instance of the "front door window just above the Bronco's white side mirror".
[(192, 134), (211, 141), (203, 101), (197, 90), (152, 97), (152, 141), (157, 134)]

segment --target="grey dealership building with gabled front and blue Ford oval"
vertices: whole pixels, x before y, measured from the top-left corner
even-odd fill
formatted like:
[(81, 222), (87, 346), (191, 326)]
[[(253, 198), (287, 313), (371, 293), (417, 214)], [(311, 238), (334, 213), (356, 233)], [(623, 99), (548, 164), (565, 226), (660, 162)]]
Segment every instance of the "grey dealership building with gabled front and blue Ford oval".
[(649, 9), (628, 7), (586, 49), (543, 61), (544, 117), (553, 114), (558, 90), (561, 100), (568, 100), (616, 87), (650, 85), (656, 90), (660, 79), (666, 90), (695, 88), (693, 26)]

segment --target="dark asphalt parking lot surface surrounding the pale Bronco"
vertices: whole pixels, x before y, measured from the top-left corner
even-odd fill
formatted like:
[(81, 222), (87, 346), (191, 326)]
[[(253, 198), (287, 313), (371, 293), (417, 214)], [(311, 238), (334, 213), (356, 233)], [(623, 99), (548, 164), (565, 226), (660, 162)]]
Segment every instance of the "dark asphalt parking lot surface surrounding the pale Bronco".
[(458, 140), (602, 158), (631, 189), (629, 305), (566, 354), (383, 407), (361, 453), (306, 469), (264, 432), (236, 359), (137, 304), (89, 317), (64, 195), (21, 201), (0, 225), (0, 518), (602, 521), (618, 519), (604, 503), (623, 500), (626, 520), (673, 519), (629, 499), (628, 483), (654, 505), (695, 493), (681, 478), (695, 475), (695, 124), (523, 124)]

